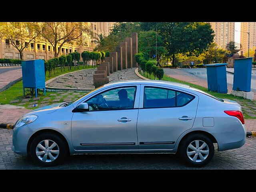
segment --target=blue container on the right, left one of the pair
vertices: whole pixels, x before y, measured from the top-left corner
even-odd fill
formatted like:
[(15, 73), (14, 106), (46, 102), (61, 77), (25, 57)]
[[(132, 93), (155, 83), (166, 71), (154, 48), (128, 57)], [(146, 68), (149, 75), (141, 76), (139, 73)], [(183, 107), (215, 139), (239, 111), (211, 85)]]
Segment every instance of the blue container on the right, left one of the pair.
[(207, 64), (208, 90), (218, 93), (227, 93), (226, 63)]

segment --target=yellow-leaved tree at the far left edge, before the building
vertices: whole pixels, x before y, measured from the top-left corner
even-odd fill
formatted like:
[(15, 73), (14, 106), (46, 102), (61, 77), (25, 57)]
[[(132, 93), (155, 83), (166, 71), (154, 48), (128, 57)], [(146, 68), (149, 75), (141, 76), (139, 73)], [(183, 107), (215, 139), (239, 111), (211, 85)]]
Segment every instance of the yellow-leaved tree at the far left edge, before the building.
[(0, 26), (0, 38), (5, 38), (20, 54), (23, 60), (23, 50), (36, 42), (38, 32), (30, 22), (5, 22)]

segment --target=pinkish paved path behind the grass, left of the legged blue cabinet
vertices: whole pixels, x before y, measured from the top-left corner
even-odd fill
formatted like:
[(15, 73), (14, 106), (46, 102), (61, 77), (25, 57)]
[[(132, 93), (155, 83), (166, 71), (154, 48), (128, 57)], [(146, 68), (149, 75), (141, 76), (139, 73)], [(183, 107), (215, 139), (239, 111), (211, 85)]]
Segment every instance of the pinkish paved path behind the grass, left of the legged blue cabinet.
[(15, 70), (9, 70), (0, 74), (0, 90), (10, 82), (22, 77), (21, 68)]

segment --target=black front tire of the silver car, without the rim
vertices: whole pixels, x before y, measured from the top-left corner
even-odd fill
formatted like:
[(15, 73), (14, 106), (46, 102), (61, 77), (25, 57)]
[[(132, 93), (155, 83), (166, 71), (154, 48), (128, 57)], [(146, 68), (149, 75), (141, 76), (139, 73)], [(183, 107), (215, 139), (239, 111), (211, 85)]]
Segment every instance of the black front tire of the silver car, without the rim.
[[(43, 140), (52, 140), (58, 145), (58, 148), (59, 148), (58, 157), (52, 162), (43, 162), (36, 156), (36, 146)], [(61, 164), (64, 161), (64, 159), (68, 156), (68, 148), (66, 147), (65, 141), (62, 138), (60, 138), (60, 136), (46, 132), (36, 136), (32, 140), (29, 154), (33, 162), (35, 162), (39, 166), (44, 166), (44, 167), (56, 166), (58, 164)]]

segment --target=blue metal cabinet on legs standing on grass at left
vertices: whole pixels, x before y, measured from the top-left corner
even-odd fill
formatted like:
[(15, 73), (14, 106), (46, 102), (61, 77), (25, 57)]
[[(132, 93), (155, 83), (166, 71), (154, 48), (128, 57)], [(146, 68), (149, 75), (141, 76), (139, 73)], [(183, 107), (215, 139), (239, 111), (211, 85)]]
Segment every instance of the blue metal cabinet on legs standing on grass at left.
[(45, 94), (45, 73), (44, 60), (25, 60), (22, 61), (22, 82), (24, 88), (34, 88), (37, 97), (37, 89), (43, 89)]

